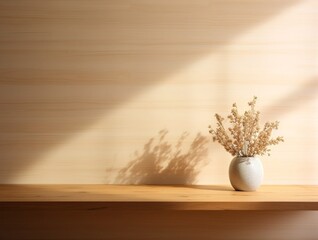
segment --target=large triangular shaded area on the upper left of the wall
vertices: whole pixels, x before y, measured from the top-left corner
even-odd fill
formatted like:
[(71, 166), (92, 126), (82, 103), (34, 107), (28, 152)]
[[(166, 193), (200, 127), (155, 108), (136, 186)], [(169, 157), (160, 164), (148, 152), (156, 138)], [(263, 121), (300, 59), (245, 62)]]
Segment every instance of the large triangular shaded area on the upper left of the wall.
[(0, 182), (14, 182), (123, 103), (299, 2), (2, 4)]

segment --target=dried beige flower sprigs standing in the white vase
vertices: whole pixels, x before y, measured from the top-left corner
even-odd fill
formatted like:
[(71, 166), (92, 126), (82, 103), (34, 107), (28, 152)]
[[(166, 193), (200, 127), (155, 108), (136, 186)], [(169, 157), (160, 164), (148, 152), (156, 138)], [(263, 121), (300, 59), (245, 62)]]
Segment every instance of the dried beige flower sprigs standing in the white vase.
[(229, 135), (223, 125), (224, 118), (215, 114), (217, 127), (215, 130), (209, 126), (209, 133), (213, 141), (219, 142), (227, 152), (233, 156), (253, 157), (255, 155), (270, 155), (269, 146), (283, 142), (284, 138), (279, 136), (271, 138), (272, 131), (278, 129), (279, 122), (266, 122), (261, 129), (259, 126), (259, 111), (255, 111), (257, 97), (248, 103), (250, 109), (243, 115), (238, 113), (236, 103), (233, 104), (231, 114), (227, 116), (231, 127), (228, 128)]

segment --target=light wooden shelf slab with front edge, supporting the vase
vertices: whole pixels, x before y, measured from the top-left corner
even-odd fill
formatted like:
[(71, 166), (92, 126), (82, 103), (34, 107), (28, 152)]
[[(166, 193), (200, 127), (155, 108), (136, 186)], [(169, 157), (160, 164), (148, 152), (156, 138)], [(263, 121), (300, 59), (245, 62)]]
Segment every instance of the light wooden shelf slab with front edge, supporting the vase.
[(318, 186), (0, 185), (0, 209), (318, 210)]

